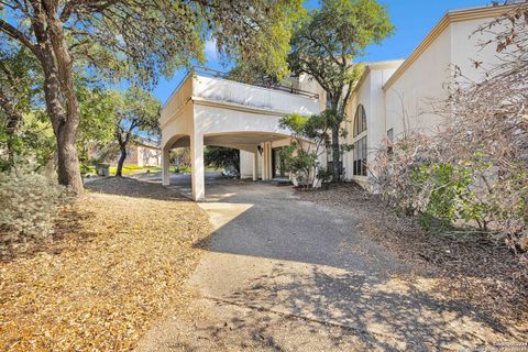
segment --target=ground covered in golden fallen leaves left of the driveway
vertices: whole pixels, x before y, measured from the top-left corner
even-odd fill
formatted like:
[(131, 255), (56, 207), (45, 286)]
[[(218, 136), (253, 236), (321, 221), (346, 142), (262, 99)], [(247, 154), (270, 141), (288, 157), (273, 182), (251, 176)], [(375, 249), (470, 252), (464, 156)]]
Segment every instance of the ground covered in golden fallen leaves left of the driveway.
[(47, 243), (0, 262), (0, 351), (123, 351), (170, 308), (209, 234), (198, 206), (107, 178), (62, 212)]

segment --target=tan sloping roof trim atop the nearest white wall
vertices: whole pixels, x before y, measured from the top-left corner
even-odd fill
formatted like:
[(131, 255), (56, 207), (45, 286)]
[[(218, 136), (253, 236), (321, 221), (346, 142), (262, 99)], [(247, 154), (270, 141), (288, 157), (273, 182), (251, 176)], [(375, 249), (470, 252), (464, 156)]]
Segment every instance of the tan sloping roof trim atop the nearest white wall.
[(515, 7), (515, 4), (480, 7), (447, 12), (443, 18), (437, 23), (437, 25), (435, 25), (435, 28), (429, 32), (429, 34), (427, 34), (426, 38), (416, 47), (413, 54), (410, 54), (410, 56), (402, 64), (402, 66), (399, 66), (399, 68), (393, 74), (393, 76), (391, 76), (391, 78), (383, 86), (383, 90), (386, 91), (388, 88), (391, 88), (451, 23), (498, 16)]

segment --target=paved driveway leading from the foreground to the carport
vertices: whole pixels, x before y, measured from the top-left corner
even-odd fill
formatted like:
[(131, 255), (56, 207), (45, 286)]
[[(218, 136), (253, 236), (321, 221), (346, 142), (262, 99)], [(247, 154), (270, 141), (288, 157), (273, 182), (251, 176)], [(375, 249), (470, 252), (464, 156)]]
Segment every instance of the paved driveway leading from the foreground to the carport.
[[(172, 183), (185, 191), (188, 179)], [(215, 231), (189, 279), (196, 298), (140, 351), (437, 351), (501, 338), (491, 317), (437, 297), (432, 276), (370, 241), (353, 213), (215, 174), (206, 193)]]

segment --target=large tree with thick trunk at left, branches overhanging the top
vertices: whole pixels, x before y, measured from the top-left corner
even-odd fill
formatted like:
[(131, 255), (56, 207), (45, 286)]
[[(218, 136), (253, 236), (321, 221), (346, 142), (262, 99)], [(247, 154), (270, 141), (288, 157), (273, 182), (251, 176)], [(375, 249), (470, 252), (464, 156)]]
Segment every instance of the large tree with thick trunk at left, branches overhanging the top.
[(270, 70), (280, 70), (279, 58), (289, 48), (285, 23), (299, 7), (299, 0), (1, 1), (0, 45), (16, 43), (37, 59), (56, 136), (58, 182), (79, 194), (77, 67), (148, 84), (201, 61), (202, 43), (212, 37), (226, 56), (262, 59), (266, 53), (274, 58)]

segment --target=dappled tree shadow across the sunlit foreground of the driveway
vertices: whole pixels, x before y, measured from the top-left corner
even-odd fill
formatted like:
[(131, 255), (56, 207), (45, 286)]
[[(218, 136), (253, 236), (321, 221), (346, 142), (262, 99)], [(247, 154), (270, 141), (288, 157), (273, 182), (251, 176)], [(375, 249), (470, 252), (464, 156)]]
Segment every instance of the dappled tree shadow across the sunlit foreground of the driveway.
[(391, 278), (334, 274), (318, 266), (292, 275), (277, 265), (271, 275), (254, 278), (226, 299), (341, 327), (336, 346), (354, 334), (384, 351), (439, 351), (485, 345), (512, 332), (464, 301), (439, 299)]

